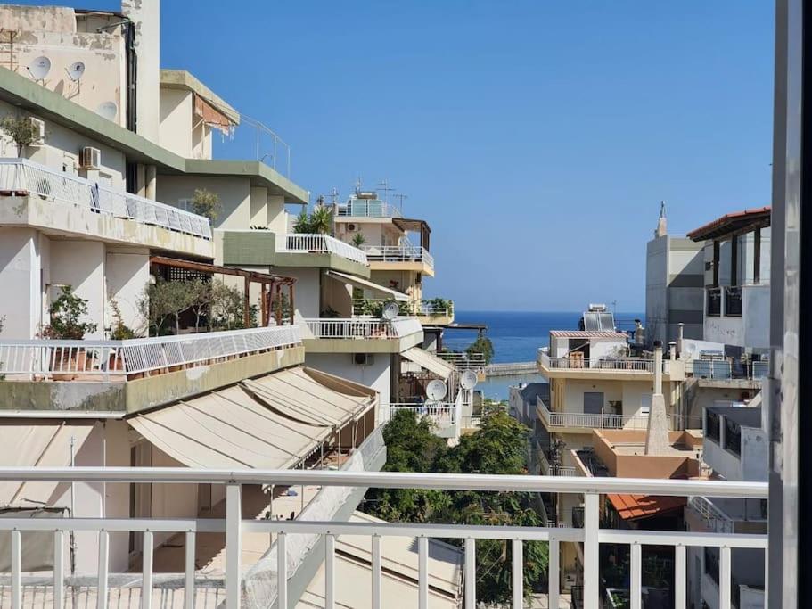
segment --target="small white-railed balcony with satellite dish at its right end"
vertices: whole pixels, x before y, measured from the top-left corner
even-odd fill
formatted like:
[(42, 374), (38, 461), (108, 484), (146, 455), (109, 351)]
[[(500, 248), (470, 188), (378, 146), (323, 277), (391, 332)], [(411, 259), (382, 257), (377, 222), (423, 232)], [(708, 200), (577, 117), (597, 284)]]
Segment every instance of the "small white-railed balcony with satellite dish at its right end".
[(422, 325), (415, 317), (392, 321), (374, 317), (317, 317), (304, 320), (308, 351), (400, 353), (422, 343)]

